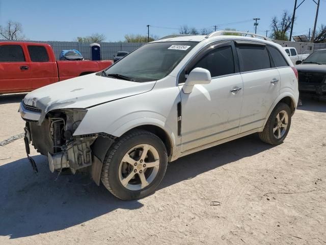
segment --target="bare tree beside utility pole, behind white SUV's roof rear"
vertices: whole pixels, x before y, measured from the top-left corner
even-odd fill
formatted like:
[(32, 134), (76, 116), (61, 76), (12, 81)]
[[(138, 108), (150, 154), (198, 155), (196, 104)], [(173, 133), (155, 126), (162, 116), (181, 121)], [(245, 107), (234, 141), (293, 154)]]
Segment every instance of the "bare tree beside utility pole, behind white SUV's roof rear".
[(279, 20), (277, 16), (274, 16), (273, 19), (271, 19), (271, 24), (270, 24), (270, 27), (273, 29), (273, 32), (271, 33), (270, 37), (276, 40), (288, 41), (289, 38), (287, 32), (291, 28), (291, 22), (292, 22), (292, 16), (289, 15), (289, 13), (286, 10), (283, 11), (281, 20)]

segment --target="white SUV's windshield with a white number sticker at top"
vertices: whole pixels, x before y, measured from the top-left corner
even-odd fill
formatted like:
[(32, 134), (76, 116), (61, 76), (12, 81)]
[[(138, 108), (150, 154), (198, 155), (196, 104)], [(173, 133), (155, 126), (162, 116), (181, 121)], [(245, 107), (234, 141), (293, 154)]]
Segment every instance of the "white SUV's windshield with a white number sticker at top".
[[(148, 82), (165, 78), (198, 42), (148, 43), (107, 68), (102, 76)], [(119, 75), (119, 76), (117, 76)]]

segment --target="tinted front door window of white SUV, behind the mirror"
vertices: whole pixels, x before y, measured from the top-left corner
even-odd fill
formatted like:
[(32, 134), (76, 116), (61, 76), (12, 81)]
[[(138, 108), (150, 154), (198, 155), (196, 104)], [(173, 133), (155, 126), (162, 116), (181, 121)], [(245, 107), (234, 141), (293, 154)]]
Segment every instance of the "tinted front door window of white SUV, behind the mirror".
[(210, 76), (218, 77), (234, 73), (234, 60), (231, 46), (216, 48), (207, 53), (194, 67), (210, 71)]

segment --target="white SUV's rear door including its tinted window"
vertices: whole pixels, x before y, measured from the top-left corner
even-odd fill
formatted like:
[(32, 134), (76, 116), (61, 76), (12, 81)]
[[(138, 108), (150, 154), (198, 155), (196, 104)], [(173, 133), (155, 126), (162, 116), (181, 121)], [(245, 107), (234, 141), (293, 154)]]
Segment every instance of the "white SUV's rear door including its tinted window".
[(240, 133), (260, 128), (271, 105), (280, 94), (280, 74), (264, 43), (236, 41), (243, 102)]

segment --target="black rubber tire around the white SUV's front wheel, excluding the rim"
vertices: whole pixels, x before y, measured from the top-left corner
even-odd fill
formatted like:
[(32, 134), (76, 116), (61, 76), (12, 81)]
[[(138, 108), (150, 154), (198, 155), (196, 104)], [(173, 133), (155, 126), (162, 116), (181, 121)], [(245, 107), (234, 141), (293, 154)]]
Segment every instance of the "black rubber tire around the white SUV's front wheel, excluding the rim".
[[(150, 144), (154, 146), (159, 155), (159, 168), (155, 179), (148, 186), (141, 190), (129, 190), (119, 180), (119, 166), (128, 150), (139, 144)], [(117, 198), (122, 200), (139, 199), (155, 191), (165, 175), (167, 166), (167, 149), (160, 138), (145, 130), (132, 130), (122, 135), (108, 149), (103, 161), (101, 180), (106, 189)]]

